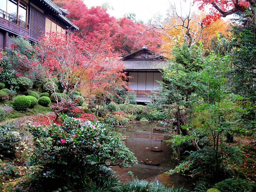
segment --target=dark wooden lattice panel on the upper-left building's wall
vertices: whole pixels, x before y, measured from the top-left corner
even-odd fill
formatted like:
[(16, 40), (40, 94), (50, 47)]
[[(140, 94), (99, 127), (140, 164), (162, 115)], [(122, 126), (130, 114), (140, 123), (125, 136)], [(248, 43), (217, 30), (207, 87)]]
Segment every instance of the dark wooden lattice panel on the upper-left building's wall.
[(30, 7), (30, 23), (29, 34), (36, 39), (44, 35), (45, 31), (45, 15), (37, 11), (34, 7)]

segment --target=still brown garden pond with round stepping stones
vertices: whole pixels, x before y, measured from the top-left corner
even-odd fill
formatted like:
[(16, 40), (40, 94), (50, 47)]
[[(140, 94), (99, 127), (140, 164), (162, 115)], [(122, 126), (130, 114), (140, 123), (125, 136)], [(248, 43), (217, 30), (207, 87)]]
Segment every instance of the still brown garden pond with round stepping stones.
[[(164, 172), (177, 165), (177, 155), (173, 153), (168, 140), (175, 133), (157, 122), (136, 123), (117, 129), (126, 136), (126, 146), (138, 159), (138, 164), (125, 169), (114, 168), (123, 180), (132, 179), (127, 172), (132, 172), (140, 180), (154, 180), (165, 185), (193, 189), (192, 178), (180, 173), (166, 175)], [(156, 165), (154, 165), (156, 164)]]

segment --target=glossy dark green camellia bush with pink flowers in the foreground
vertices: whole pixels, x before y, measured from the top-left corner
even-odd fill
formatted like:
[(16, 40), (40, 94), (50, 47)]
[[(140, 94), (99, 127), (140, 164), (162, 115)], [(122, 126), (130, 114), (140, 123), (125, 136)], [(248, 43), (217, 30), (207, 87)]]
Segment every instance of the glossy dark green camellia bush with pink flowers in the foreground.
[(60, 122), (62, 125), (28, 126), (37, 147), (30, 162), (42, 168), (37, 183), (59, 183), (56, 187), (76, 183), (73, 188), (80, 188), (94, 180), (100, 165), (126, 167), (137, 162), (122, 137), (108, 131), (107, 125), (64, 114), (60, 114)]

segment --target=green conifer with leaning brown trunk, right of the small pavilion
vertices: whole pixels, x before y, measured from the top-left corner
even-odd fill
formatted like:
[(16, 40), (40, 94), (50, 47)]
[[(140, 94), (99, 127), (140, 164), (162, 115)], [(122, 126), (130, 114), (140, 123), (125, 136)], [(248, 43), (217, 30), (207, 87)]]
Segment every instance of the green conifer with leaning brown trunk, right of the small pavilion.
[[(170, 65), (163, 69), (164, 81), (159, 82), (162, 87), (159, 93), (161, 96), (156, 97), (154, 105), (158, 110), (164, 109), (170, 112), (173, 107), (177, 108), (174, 113), (177, 118), (178, 134), (181, 130), (183, 136), (191, 135), (182, 126), (186, 127), (189, 109), (197, 92), (200, 91), (200, 72), (204, 59), (199, 46), (189, 47), (186, 43), (176, 43), (172, 55)], [(191, 138), (191, 143), (195, 148), (197, 147), (193, 138)], [(178, 146), (179, 160), (180, 150)]]

